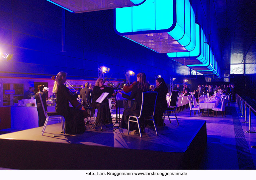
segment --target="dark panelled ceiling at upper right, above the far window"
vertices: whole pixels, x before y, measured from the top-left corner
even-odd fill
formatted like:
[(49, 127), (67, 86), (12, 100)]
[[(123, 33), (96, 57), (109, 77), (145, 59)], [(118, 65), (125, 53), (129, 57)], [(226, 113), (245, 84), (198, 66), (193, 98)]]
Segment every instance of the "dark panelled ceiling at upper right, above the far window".
[[(203, 0), (201, 0), (203, 1)], [(222, 69), (229, 72), (231, 64), (255, 64), (256, 0), (210, 0), (214, 5), (222, 54)], [(211, 11), (213, 11), (211, 9)]]

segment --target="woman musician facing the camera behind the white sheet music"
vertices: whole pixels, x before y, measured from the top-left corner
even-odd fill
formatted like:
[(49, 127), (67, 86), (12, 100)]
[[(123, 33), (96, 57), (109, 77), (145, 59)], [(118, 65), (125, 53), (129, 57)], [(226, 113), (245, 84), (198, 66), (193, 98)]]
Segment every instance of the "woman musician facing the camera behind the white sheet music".
[(102, 122), (112, 123), (111, 113), (109, 109), (109, 104), (107, 98), (105, 98), (102, 103), (97, 103), (96, 100), (102, 95), (102, 93), (107, 92), (112, 95), (113, 91), (109, 87), (104, 86), (104, 79), (98, 78), (95, 82), (95, 86), (92, 89), (94, 95), (92, 100), (92, 109), (98, 109), (95, 125)]

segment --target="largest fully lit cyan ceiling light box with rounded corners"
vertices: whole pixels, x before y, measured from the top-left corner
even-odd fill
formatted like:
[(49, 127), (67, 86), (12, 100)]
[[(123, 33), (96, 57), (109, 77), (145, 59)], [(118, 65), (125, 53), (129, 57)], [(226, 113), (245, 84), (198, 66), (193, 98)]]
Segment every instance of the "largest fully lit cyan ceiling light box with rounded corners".
[(147, 0), (117, 8), (114, 28), (117, 34), (160, 53), (195, 47), (195, 17), (189, 0)]

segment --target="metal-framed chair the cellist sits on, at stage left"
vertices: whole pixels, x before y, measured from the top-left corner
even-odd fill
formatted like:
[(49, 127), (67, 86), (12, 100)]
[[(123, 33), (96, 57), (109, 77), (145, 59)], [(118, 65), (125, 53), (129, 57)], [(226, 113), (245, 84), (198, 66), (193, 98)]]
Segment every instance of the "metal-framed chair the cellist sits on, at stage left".
[(41, 101), (41, 104), (42, 104), (42, 108), (44, 110), (44, 113), (45, 113), (45, 117), (46, 117), (46, 121), (45, 121), (45, 124), (42, 128), (42, 135), (44, 135), (44, 132), (45, 132), (45, 129), (46, 129), (46, 126), (48, 124), (48, 122), (50, 121), (58, 121), (60, 122), (61, 121), (61, 127), (62, 127), (62, 131), (63, 131), (63, 134), (65, 134), (65, 128), (64, 128), (64, 122), (65, 122), (65, 118), (61, 115), (59, 115), (57, 112), (47, 112), (45, 111), (45, 107), (44, 107), (44, 104), (42, 102), (42, 97), (41, 97), (41, 94), (39, 93), (39, 97), (40, 97), (40, 101)]

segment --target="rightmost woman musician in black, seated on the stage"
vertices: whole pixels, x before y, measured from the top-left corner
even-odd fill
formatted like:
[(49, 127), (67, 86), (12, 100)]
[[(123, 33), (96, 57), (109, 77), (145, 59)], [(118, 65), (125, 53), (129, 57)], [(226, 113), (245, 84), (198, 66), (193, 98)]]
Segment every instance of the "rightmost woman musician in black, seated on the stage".
[(168, 87), (162, 77), (156, 79), (156, 86), (157, 87), (153, 90), (158, 92), (154, 119), (157, 126), (165, 126), (163, 114), (167, 109), (166, 94), (168, 93)]

